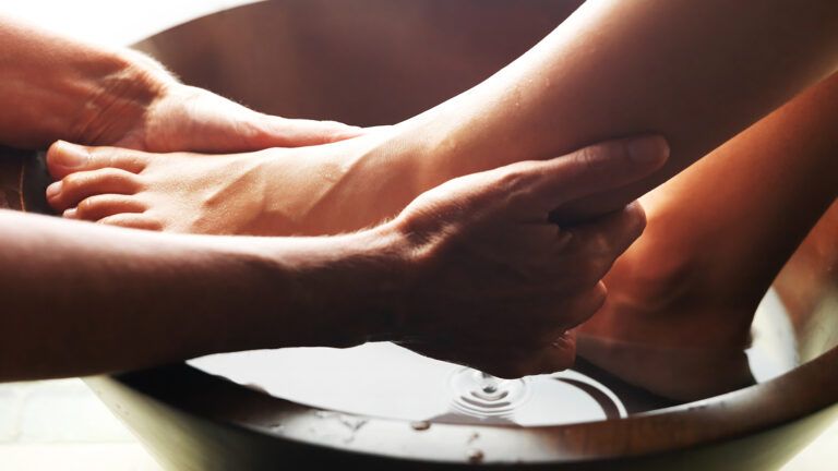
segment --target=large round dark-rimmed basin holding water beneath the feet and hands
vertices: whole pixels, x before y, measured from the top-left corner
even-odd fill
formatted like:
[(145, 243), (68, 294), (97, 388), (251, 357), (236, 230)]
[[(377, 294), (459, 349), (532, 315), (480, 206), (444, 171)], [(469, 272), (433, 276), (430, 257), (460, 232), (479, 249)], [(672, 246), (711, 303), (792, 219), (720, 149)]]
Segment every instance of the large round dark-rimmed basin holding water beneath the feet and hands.
[[(136, 48), (183, 82), (260, 111), (386, 124), (486, 78), (578, 3), (276, 0), (192, 21)], [(47, 212), (47, 181), (43, 154), (0, 150), (0, 206)], [(355, 360), (402, 354), (386, 346), (318, 351), (325, 355), (320, 363), (303, 351), (199, 359), (87, 384), (173, 470), (776, 469), (837, 419), (837, 267), (838, 206), (833, 205), (761, 304), (751, 352), (758, 383), (690, 403), (646, 394), (584, 361), (553, 379), (585, 394), (541, 397), (539, 407), (550, 418), (544, 423), (456, 411), (411, 416), (375, 401), (337, 403), (328, 394), (314, 399), (282, 389), (284, 379), (304, 381), (282, 359), (318, 375), (340, 361), (349, 367), (347, 354), (368, 355)], [(270, 390), (249, 384), (251, 376), (242, 373), (241, 365), (253, 362), (261, 370), (252, 377), (276, 370)], [(366, 394), (384, 388), (386, 375), (369, 375)], [(346, 379), (334, 385), (335, 396), (361, 389)], [(399, 400), (407, 410), (412, 396), (405, 395)], [(577, 403), (594, 407), (576, 416), (571, 411)]]

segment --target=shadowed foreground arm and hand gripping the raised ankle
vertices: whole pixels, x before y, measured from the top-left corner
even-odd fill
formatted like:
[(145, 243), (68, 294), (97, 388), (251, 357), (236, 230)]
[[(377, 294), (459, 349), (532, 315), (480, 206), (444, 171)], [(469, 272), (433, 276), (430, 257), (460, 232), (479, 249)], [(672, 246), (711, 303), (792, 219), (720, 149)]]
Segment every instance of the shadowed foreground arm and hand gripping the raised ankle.
[[(0, 381), (370, 338), (501, 376), (567, 367), (568, 329), (601, 306), (599, 280), (645, 219), (631, 205), (560, 229), (549, 212), (645, 178), (667, 156), (647, 136), (518, 162), (446, 182), (385, 225), (321, 238), (156, 234), (0, 212)], [(478, 322), (486, 328), (467, 328)]]

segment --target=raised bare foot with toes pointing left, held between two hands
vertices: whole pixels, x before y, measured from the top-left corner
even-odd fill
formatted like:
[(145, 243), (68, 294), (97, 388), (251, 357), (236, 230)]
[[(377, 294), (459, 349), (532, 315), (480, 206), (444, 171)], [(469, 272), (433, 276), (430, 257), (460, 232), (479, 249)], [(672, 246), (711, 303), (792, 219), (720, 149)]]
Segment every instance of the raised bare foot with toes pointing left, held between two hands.
[(300, 148), (147, 154), (58, 142), (47, 200), (68, 218), (208, 234), (331, 234), (380, 222), (419, 193), (379, 135)]

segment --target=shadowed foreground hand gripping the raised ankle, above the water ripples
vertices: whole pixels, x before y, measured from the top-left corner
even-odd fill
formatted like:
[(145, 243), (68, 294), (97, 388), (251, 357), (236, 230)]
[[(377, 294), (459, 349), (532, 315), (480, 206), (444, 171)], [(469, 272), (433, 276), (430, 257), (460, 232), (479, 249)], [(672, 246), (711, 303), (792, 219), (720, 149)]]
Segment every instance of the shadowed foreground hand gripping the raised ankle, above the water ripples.
[(574, 326), (603, 303), (600, 279), (641, 234), (636, 203), (574, 227), (551, 210), (660, 168), (660, 137), (594, 145), (452, 180), (386, 226), (407, 243), (397, 342), (501, 376), (572, 365)]

